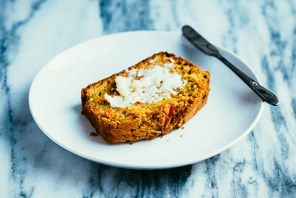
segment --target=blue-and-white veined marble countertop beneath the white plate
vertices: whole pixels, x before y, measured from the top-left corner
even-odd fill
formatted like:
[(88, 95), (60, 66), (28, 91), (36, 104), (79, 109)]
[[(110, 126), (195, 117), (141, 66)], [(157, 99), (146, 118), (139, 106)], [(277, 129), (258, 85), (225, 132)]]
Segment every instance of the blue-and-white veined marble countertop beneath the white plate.
[[(88, 39), (189, 24), (238, 54), (275, 93), (250, 134), (210, 159), (164, 170), (100, 165), (61, 148), (34, 122), (38, 70)], [(295, 0), (0, 1), (0, 197), (295, 197)]]

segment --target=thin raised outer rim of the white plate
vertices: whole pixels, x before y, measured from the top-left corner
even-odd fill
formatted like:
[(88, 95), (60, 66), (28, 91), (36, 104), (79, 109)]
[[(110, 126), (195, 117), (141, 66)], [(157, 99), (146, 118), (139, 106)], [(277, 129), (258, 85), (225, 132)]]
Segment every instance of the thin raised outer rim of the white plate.
[[(256, 116), (256, 118), (254, 119), (254, 121), (252, 122), (252, 124), (248, 127), (247, 130), (245, 130), (240, 136), (238, 136), (236, 139), (234, 139), (233, 141), (231, 141), (230, 143), (226, 144), (225, 146), (223, 146), (222, 148), (218, 149), (218, 150), (215, 150), (213, 152), (210, 152), (206, 155), (203, 155), (203, 156), (200, 156), (200, 157), (195, 157), (195, 158), (192, 158), (191, 160), (187, 160), (187, 161), (182, 161), (181, 163), (171, 163), (170, 165), (164, 165), (164, 164), (161, 164), (161, 165), (130, 165), (130, 164), (126, 164), (126, 163), (113, 163), (113, 162), (109, 162), (109, 161), (105, 161), (105, 160), (102, 160), (102, 159), (97, 159), (97, 158), (93, 158), (91, 156), (87, 156), (79, 151), (76, 151), (66, 145), (64, 145), (61, 141), (55, 139), (54, 137), (52, 137), (50, 135), (50, 133), (46, 132), (42, 127), (41, 125), (37, 122), (37, 119), (33, 113), (33, 110), (32, 110), (32, 85), (34, 85), (36, 79), (37, 79), (37, 76), (41, 73), (41, 71), (43, 69), (45, 69), (45, 67), (47, 67), (54, 59), (56, 59), (57, 57), (61, 56), (62, 54), (66, 53), (67, 51), (70, 51), (72, 48), (75, 48), (75, 47), (78, 47), (79, 45), (83, 45), (87, 42), (92, 42), (94, 40), (99, 40), (99, 39), (104, 39), (106, 37), (110, 37), (110, 36), (116, 36), (116, 35), (124, 35), (124, 34), (130, 34), (130, 33), (156, 33), (156, 34), (159, 34), (159, 33), (164, 33), (164, 34), (174, 34), (174, 35), (182, 35), (181, 32), (169, 32), (169, 31), (129, 31), (129, 32), (121, 32), (121, 33), (112, 33), (112, 34), (108, 34), (108, 35), (101, 35), (101, 36), (98, 36), (98, 37), (95, 37), (95, 38), (92, 38), (92, 39), (89, 39), (89, 40), (86, 40), (86, 41), (83, 41), (83, 42), (80, 42), (80, 43), (77, 43), (75, 44), (74, 46), (72, 47), (69, 47), (65, 50), (63, 50), (62, 52), (59, 52), (57, 55), (55, 55), (54, 57), (52, 57), (49, 61), (47, 61), (40, 69), (39, 71), (37, 72), (37, 74), (35, 75), (31, 85), (30, 85), (30, 89), (29, 89), (29, 95), (28, 95), (28, 103), (29, 103), (29, 109), (30, 109), (30, 112), (31, 112), (31, 115), (35, 121), (35, 123), (37, 124), (38, 128), (49, 138), (51, 139), (53, 142), (55, 142), (56, 144), (58, 144), (59, 146), (61, 146), (62, 148), (74, 153), (75, 155), (78, 155), (82, 158), (85, 158), (87, 160), (90, 160), (90, 161), (93, 161), (93, 162), (96, 162), (96, 163), (100, 163), (100, 164), (103, 164), (103, 165), (111, 165), (111, 166), (114, 166), (114, 167), (120, 167), (120, 168), (128, 168), (128, 169), (167, 169), (167, 168), (174, 168), (174, 167), (180, 167), (180, 166), (184, 166), (184, 165), (192, 165), (194, 163), (198, 163), (198, 162), (201, 162), (203, 160), (206, 160), (208, 158), (211, 158), (219, 153), (222, 153), (223, 151), (227, 150), (228, 148), (230, 148), (231, 146), (233, 146), (234, 144), (236, 144), (238, 141), (240, 141), (242, 138), (244, 138), (247, 134), (249, 134), (253, 129), (254, 127), (257, 125), (257, 123), (259, 122), (259, 119), (260, 117), (262, 116), (262, 113), (263, 113), (263, 109), (264, 109), (264, 102), (261, 101), (260, 102), (260, 108), (259, 108), (259, 112)], [(234, 56), (236, 59), (238, 59), (239, 61), (241, 61), (245, 66), (248, 67), (248, 69), (250, 69), (250, 71), (253, 73), (253, 75), (255, 76), (255, 80), (257, 80), (259, 82), (259, 84), (261, 84), (257, 74), (254, 72), (254, 70), (248, 66), (248, 64), (243, 60), (241, 59), (238, 55), (236, 55), (234, 52), (226, 49), (225, 47), (223, 46), (220, 46), (220, 45), (216, 45), (214, 44), (216, 47), (218, 47), (218, 49), (222, 49), (224, 51), (226, 51), (227, 53), (229, 53), (230, 55)]]

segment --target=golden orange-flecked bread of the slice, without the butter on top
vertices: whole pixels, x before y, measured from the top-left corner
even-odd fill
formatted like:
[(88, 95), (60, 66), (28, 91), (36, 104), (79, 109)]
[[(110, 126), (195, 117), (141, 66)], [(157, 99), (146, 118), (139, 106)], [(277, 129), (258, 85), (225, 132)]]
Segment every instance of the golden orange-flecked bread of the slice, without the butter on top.
[[(170, 73), (182, 76), (184, 87), (175, 90), (176, 95), (160, 101), (136, 102), (124, 108), (111, 107), (105, 94), (118, 96), (116, 76), (126, 77), (133, 68), (150, 69), (169, 63)], [(162, 136), (180, 128), (207, 102), (210, 72), (194, 64), (160, 52), (108, 78), (88, 85), (81, 91), (82, 114), (90, 121), (106, 142), (136, 141)]]

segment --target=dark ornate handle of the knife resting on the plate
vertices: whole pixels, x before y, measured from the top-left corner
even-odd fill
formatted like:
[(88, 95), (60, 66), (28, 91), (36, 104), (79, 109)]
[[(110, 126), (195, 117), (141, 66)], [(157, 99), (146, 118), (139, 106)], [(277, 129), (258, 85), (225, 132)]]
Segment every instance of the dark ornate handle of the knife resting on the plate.
[(279, 99), (274, 94), (272, 94), (270, 91), (259, 85), (258, 82), (247, 76), (236, 66), (232, 65), (229, 61), (222, 57), (222, 55), (219, 54), (216, 57), (220, 61), (222, 61), (226, 66), (228, 66), (236, 75), (238, 75), (238, 77), (240, 77), (263, 101), (274, 106), (280, 104)]

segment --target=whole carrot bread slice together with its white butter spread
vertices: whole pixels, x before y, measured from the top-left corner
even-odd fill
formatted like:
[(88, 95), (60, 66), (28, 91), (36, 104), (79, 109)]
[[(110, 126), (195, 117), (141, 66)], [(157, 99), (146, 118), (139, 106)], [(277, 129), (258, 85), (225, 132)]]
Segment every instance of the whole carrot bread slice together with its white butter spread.
[(106, 142), (152, 139), (192, 118), (209, 83), (209, 71), (160, 52), (82, 89), (82, 114)]

